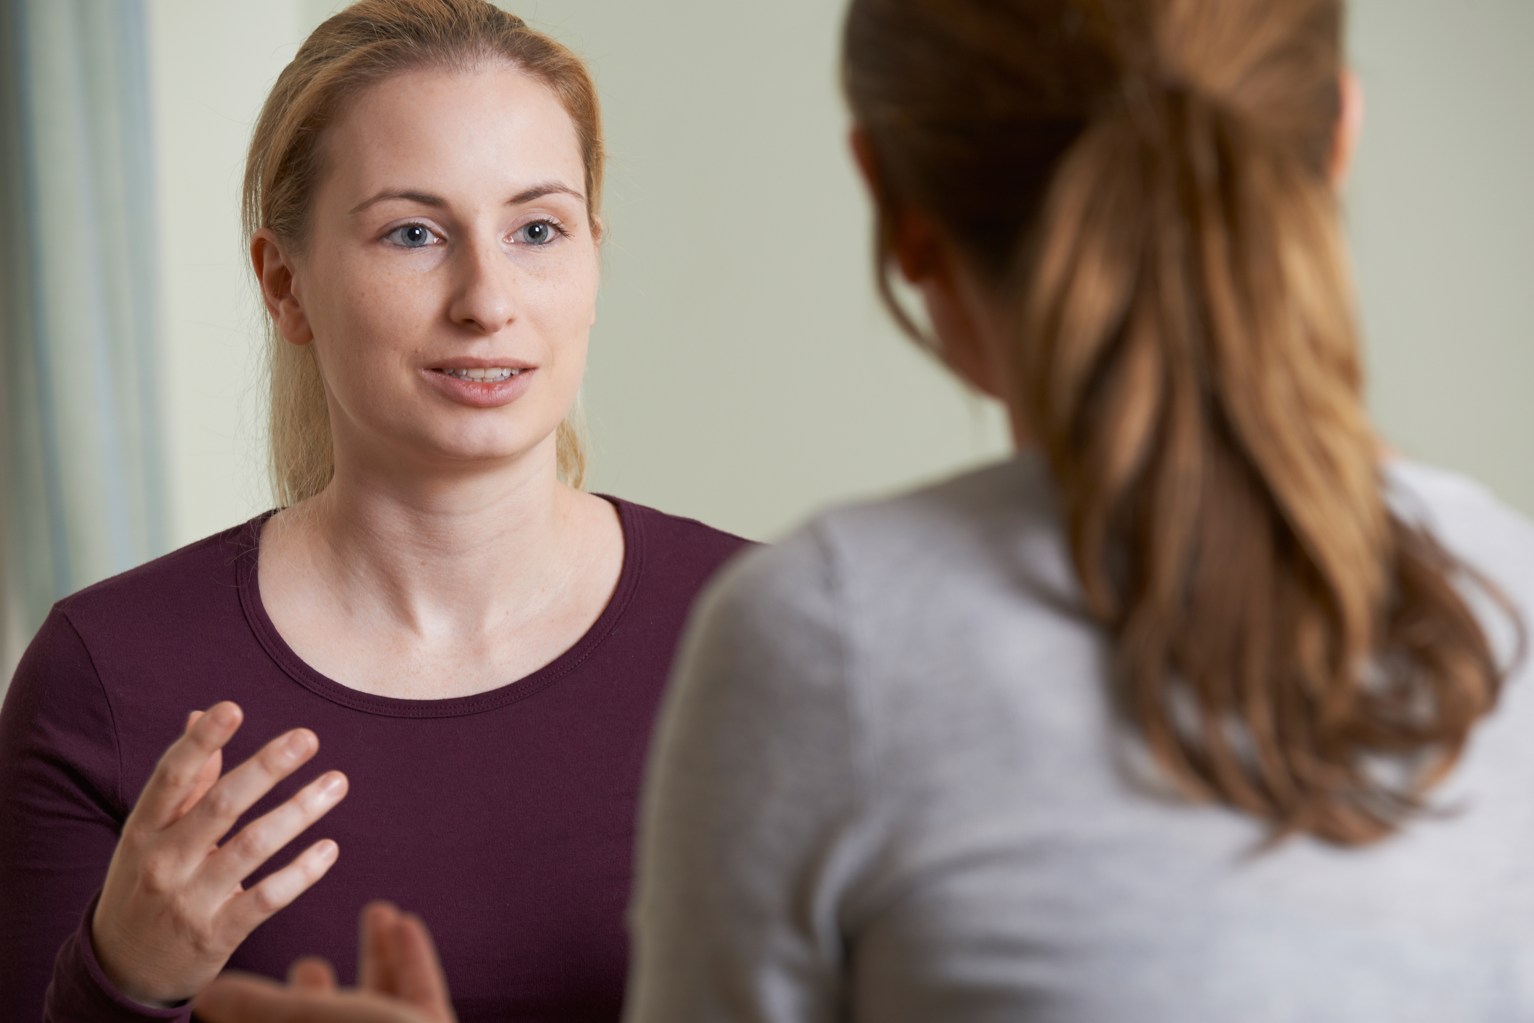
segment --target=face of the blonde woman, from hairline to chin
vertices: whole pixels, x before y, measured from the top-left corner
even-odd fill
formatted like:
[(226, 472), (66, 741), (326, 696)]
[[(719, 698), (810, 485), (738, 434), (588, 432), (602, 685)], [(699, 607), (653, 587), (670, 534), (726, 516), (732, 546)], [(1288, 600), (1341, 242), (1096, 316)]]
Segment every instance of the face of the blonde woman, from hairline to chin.
[(314, 345), (337, 468), (552, 460), (598, 273), (558, 100), (500, 66), (396, 75), (344, 109), (324, 160), (282, 330)]

